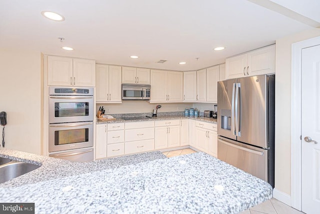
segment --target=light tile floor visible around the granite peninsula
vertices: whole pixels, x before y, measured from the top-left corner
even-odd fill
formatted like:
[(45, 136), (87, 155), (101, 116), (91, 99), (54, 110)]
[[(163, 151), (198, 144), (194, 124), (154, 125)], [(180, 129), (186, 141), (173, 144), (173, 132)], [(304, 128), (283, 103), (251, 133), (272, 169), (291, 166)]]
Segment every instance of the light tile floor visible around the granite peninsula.
[[(174, 157), (182, 154), (190, 154), (196, 152), (191, 148), (184, 148), (179, 150), (165, 151), (162, 152), (167, 157)], [(270, 200), (264, 201), (252, 208), (246, 209), (240, 214), (301, 214), (304, 212), (298, 211), (291, 206), (288, 206), (281, 201), (271, 198)]]

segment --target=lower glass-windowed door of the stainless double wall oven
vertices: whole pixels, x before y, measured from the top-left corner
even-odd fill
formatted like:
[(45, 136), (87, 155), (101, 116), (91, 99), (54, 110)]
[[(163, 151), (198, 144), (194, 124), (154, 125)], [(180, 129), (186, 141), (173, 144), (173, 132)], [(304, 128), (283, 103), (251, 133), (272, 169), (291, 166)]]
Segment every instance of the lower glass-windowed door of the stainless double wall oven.
[(93, 146), (93, 122), (49, 124), (49, 152)]

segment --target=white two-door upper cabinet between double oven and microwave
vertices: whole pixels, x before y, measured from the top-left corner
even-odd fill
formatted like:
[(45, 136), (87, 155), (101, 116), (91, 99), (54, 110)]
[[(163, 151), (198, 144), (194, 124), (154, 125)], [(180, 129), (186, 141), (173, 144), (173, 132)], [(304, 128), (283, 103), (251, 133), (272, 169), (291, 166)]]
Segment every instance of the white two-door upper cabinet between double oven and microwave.
[(121, 66), (96, 64), (96, 102), (119, 103), (121, 94)]

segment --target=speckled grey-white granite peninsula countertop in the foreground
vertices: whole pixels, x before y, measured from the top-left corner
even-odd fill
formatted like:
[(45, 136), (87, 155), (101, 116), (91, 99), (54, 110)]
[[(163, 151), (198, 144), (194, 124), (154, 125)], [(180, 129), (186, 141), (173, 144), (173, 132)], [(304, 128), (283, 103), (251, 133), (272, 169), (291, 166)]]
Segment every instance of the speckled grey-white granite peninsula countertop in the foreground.
[[(49, 179), (0, 186), (1, 202), (34, 202), (36, 213), (238, 213), (272, 197), (267, 182), (203, 152), (88, 171), (86, 163), (8, 149), (0, 155), (42, 164), (34, 171), (52, 167), (43, 170)], [(65, 165), (77, 173), (55, 177), (53, 167)]]

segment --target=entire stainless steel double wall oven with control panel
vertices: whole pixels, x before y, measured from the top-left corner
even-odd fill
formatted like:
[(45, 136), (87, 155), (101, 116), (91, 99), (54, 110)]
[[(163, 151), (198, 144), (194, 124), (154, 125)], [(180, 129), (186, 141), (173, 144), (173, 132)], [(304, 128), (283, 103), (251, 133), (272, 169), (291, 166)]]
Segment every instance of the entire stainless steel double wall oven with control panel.
[(50, 86), (49, 156), (93, 160), (93, 88)]

